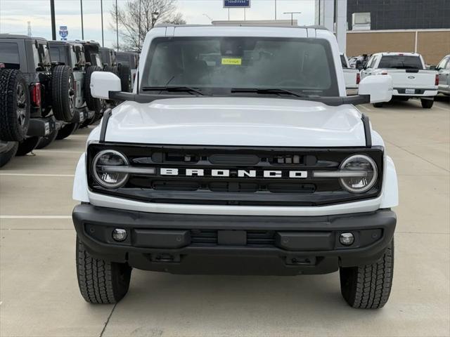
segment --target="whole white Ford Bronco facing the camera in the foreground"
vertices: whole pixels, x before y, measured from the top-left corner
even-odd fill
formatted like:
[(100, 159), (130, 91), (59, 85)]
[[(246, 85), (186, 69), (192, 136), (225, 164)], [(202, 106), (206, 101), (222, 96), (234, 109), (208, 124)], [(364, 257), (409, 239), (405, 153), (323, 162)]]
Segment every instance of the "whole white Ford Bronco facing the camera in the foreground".
[(390, 100), (390, 76), (347, 97), (338, 44), (320, 27), (160, 26), (132, 93), (94, 72), (107, 110), (79, 159), (77, 276), (116, 303), (132, 268), (174, 274), (340, 270), (354, 308), (392, 284), (397, 176), (355, 104)]

